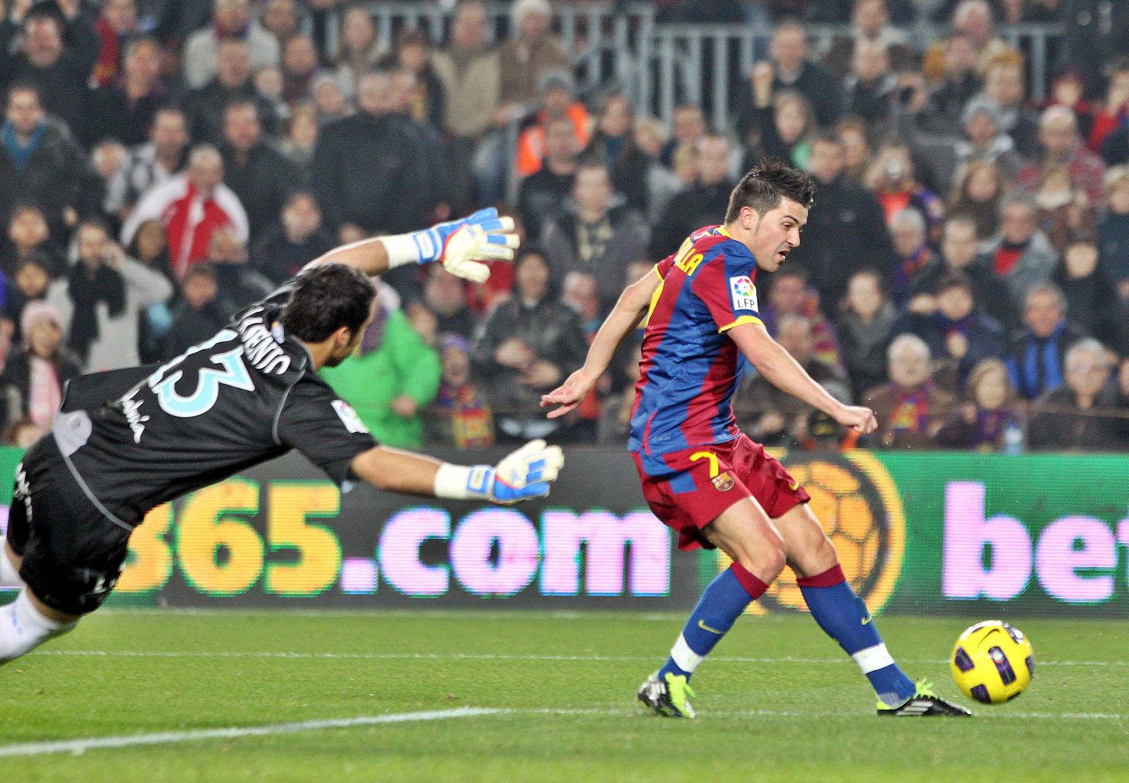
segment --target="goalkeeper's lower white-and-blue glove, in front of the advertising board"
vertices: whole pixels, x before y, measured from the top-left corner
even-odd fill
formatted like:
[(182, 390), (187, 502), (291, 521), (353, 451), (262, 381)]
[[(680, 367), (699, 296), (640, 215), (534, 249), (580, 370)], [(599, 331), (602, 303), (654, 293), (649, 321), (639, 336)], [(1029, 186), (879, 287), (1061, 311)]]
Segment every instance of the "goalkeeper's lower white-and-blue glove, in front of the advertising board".
[(564, 465), (559, 446), (531, 440), (497, 466), (443, 465), (436, 475), (435, 494), (453, 500), (488, 500), (511, 505), (531, 498), (544, 498), (549, 485)]

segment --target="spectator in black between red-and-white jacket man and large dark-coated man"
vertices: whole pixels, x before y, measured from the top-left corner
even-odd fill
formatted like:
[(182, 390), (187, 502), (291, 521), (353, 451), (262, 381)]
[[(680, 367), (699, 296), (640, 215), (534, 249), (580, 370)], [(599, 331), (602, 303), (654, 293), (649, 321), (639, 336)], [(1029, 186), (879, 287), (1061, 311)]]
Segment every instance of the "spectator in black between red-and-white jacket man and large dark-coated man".
[(251, 102), (224, 109), (224, 183), (247, 212), (251, 239), (278, 222), (287, 196), (301, 185), (301, 174), (289, 158), (263, 139), (259, 111)]

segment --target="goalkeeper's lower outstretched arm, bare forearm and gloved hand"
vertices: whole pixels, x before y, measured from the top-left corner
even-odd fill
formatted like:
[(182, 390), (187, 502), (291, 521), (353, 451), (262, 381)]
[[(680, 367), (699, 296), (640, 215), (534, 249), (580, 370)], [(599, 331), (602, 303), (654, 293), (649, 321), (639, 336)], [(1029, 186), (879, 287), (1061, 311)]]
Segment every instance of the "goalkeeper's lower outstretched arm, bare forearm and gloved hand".
[(453, 465), (434, 457), (377, 446), (353, 458), (353, 475), (379, 490), (447, 500), (510, 504), (549, 494), (564, 465), (559, 446), (531, 440), (497, 466)]

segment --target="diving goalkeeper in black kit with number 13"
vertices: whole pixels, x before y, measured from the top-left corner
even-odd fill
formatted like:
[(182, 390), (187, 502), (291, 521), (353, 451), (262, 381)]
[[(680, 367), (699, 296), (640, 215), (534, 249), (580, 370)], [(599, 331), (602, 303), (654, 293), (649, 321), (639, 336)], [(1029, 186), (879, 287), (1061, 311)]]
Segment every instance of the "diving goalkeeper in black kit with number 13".
[(342, 491), (514, 503), (549, 493), (563, 458), (531, 441), (497, 467), (465, 467), (378, 446), (318, 378), (373, 319), (368, 275), (439, 262), (482, 282), (480, 259), (511, 259), (510, 219), (483, 210), (425, 231), (367, 239), (312, 262), (211, 340), (161, 364), (80, 376), (52, 432), (16, 469), (0, 583), (0, 663), (72, 630), (110, 595), (130, 533), (159, 503), (298, 449)]

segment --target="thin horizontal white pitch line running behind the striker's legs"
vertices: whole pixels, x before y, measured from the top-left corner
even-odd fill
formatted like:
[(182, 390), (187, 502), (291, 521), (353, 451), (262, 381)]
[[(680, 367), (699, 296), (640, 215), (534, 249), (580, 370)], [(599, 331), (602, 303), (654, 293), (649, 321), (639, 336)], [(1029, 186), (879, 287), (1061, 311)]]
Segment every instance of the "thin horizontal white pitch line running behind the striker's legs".
[[(79, 656), (90, 658), (297, 658), (297, 659), (360, 659), (360, 660), (481, 660), (481, 661), (577, 661), (577, 662), (628, 662), (653, 661), (654, 656), (539, 656), (509, 653), (473, 653), (473, 652), (269, 652), (269, 651), (222, 651), (222, 650), (41, 650), (36, 656)], [(735, 656), (711, 656), (711, 661), (724, 663), (854, 663), (850, 658), (745, 658)], [(940, 659), (904, 659), (902, 663), (920, 663), (942, 666), (948, 660)], [(1039, 660), (1039, 667), (1047, 666), (1129, 666), (1129, 661), (1045, 661)]]

